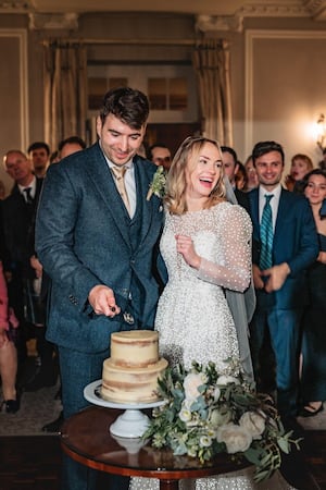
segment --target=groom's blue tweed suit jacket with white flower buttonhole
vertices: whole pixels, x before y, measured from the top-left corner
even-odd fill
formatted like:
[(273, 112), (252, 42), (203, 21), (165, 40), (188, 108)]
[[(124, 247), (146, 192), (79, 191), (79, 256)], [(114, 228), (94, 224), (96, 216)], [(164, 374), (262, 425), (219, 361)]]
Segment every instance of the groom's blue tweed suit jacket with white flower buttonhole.
[(142, 324), (153, 328), (159, 296), (153, 249), (163, 207), (146, 200), (156, 167), (134, 158), (137, 207), (142, 210), (140, 240), (131, 246), (121, 196), (98, 144), (50, 166), (36, 221), (36, 249), (52, 281), (48, 340), (80, 352), (103, 352), (121, 317), (92, 315), (88, 294), (97, 284), (113, 289), (125, 311), (131, 281), (143, 293)]

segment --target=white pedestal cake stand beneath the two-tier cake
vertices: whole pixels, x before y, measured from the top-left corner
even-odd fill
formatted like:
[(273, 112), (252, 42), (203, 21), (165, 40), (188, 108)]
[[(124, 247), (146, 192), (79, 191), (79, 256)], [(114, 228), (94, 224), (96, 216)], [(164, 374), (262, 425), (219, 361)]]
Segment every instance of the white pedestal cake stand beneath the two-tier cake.
[(101, 396), (102, 380), (93, 381), (84, 389), (85, 399), (93, 405), (106, 408), (122, 408), (125, 412), (110, 426), (110, 432), (120, 438), (141, 438), (149, 426), (149, 417), (140, 412), (143, 408), (153, 408), (164, 405), (164, 400), (152, 403), (114, 403)]

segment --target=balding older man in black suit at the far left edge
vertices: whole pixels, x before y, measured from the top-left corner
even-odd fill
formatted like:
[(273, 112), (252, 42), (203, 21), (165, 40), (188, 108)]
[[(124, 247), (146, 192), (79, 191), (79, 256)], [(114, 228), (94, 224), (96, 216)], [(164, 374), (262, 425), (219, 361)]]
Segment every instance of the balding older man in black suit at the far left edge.
[(26, 340), (33, 336), (34, 326), (42, 322), (39, 296), (35, 290), (36, 275), (29, 259), (35, 253), (35, 215), (43, 180), (35, 176), (32, 162), (18, 149), (7, 151), (3, 166), (14, 182), (11, 193), (1, 201), (4, 242), (9, 254), (3, 261), (3, 269), (10, 278), (10, 304), (20, 321), (17, 350), (22, 364), (27, 357)]

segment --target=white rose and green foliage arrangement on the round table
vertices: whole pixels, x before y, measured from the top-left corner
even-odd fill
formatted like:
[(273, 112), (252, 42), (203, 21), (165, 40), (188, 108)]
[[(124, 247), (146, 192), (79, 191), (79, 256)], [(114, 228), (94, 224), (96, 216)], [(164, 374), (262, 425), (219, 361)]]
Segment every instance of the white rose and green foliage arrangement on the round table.
[(153, 409), (143, 439), (201, 463), (222, 452), (235, 460), (244, 456), (255, 465), (255, 481), (262, 481), (279, 468), (281, 452), (299, 448), (300, 440), (285, 432), (272, 399), (255, 393), (237, 363), (229, 363), (225, 373), (214, 363), (193, 363), (190, 370), (168, 367), (159, 379), (166, 403)]

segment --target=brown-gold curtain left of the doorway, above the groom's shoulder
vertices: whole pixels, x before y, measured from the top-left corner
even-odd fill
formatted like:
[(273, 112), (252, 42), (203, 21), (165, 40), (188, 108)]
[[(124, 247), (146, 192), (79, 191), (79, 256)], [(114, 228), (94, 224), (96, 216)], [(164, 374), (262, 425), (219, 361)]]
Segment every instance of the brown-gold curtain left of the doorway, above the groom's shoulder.
[(61, 139), (85, 139), (87, 54), (83, 45), (45, 46), (45, 136), (55, 150)]

